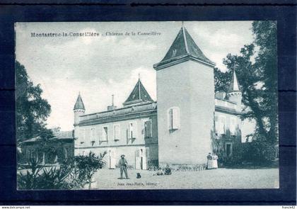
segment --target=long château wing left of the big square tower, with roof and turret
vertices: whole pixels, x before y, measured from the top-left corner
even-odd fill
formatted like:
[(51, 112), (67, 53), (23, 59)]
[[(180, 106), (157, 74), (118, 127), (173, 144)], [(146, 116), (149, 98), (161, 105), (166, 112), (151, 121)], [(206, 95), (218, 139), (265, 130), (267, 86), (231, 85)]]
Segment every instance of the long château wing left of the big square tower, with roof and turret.
[[(81, 115), (81, 96), (74, 106), (75, 154), (107, 152), (107, 167), (115, 169), (124, 154), (136, 169), (158, 164), (157, 104), (137, 81), (123, 108), (108, 106), (107, 111)], [(79, 114), (79, 116), (77, 116)]]

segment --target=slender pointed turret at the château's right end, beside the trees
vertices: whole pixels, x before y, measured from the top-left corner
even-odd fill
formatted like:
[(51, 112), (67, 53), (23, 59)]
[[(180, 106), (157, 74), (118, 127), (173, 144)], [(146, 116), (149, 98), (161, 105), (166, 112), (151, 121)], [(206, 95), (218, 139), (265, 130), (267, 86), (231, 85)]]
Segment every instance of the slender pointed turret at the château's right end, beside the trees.
[(240, 91), (240, 88), (238, 85), (238, 79), (234, 70), (227, 96), (228, 96), (228, 100), (236, 103), (236, 111), (238, 112), (241, 112), (241, 100), (243, 98), (242, 95), (243, 94)]

